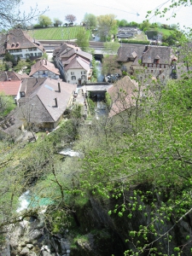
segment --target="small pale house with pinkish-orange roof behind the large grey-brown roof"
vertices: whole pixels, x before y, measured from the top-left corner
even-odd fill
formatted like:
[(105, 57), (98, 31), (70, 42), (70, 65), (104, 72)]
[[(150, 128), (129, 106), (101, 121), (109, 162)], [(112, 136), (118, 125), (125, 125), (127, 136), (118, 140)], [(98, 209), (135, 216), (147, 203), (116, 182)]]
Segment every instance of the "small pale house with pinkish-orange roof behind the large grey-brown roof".
[(33, 78), (59, 79), (60, 72), (53, 63), (47, 60), (40, 60), (32, 65), (29, 76)]

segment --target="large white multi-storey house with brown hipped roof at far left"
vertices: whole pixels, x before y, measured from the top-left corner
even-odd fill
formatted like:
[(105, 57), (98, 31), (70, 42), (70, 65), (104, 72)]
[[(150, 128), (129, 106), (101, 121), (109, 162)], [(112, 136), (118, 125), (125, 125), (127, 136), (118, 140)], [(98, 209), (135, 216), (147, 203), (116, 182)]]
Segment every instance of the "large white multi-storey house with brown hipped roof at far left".
[(6, 35), (1, 35), (0, 44), (3, 45), (0, 55), (9, 52), (15, 58), (39, 58), (44, 55), (45, 49), (37, 40), (30, 38), (30, 36), (21, 29), (10, 30)]

